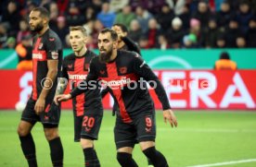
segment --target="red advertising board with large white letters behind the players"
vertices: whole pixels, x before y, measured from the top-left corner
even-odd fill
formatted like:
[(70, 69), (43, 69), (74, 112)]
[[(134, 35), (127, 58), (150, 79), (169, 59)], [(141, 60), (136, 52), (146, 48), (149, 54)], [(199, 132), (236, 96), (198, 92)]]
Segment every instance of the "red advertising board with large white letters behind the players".
[[(256, 70), (155, 70), (166, 89), (173, 108), (178, 109), (250, 109), (256, 105)], [(26, 102), (32, 91), (32, 72), (0, 71), (0, 109), (14, 109), (19, 101)], [(154, 90), (150, 89), (157, 109), (161, 108)], [(105, 108), (113, 101), (104, 99)], [(63, 108), (70, 109), (71, 102)]]

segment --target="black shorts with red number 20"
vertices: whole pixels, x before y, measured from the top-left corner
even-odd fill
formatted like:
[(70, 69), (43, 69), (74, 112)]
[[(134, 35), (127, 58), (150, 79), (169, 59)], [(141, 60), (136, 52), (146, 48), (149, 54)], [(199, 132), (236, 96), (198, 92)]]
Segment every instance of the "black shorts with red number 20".
[(74, 141), (78, 142), (80, 138), (96, 140), (101, 121), (102, 114), (84, 112), (83, 116), (74, 115)]

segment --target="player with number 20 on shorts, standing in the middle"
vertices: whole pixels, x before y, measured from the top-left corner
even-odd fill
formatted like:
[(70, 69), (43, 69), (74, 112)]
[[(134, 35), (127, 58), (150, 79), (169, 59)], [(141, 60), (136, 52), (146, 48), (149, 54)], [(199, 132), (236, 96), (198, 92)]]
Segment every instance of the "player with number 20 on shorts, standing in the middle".
[[(70, 81), (70, 89), (74, 89), (87, 74), (90, 61), (96, 56), (86, 48), (87, 33), (82, 26), (70, 27), (70, 45), (74, 54), (64, 58), (62, 75), (58, 83), (56, 95), (62, 94)], [(96, 84), (99, 86), (99, 84)], [(103, 107), (100, 89), (88, 90), (72, 99), (74, 114), (74, 141), (80, 141), (83, 148), (84, 165), (100, 166), (94, 149), (101, 125)]]

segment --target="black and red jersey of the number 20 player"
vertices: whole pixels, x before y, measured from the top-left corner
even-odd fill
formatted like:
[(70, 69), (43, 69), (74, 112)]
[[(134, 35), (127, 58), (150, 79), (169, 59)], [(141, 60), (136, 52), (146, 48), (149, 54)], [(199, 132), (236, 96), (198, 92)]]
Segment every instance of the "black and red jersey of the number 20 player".
[[(81, 57), (70, 54), (64, 58), (61, 77), (69, 79), (69, 89), (74, 89), (87, 77), (91, 59), (95, 56), (96, 54), (87, 50)], [(102, 108), (100, 85), (97, 83), (96, 87), (72, 99), (73, 111), (77, 116), (82, 116), (83, 112), (94, 112), (95, 109)]]

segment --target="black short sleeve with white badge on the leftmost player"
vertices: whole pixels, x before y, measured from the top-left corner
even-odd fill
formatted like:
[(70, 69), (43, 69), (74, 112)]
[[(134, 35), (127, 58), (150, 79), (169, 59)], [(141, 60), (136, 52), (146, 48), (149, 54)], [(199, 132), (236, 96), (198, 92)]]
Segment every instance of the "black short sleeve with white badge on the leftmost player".
[(61, 54), (62, 44), (57, 37), (48, 37), (46, 39), (46, 54), (47, 60), (58, 60)]

